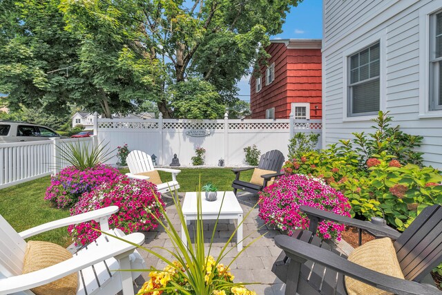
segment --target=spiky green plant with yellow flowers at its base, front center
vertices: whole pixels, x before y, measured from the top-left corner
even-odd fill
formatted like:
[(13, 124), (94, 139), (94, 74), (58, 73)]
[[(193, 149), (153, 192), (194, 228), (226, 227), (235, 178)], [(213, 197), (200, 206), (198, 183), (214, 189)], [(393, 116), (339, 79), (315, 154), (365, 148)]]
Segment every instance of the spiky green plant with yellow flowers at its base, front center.
[[(200, 185), (199, 185), (200, 187)], [(224, 194), (225, 196), (225, 194)], [(222, 197), (222, 202), (224, 202), (224, 196)], [(155, 198), (157, 196), (155, 195)], [(173, 200), (175, 204), (175, 209), (177, 210), (177, 216), (180, 218), (181, 224), (185, 225), (186, 221), (184, 220), (184, 215), (182, 213), (182, 208), (180, 203), (175, 199)], [(158, 202), (160, 204), (160, 202)], [(229, 273), (229, 267), (231, 264), (242, 254), (242, 252), (247, 249), (253, 242), (256, 242), (258, 238), (253, 239), (246, 245), (242, 251), (240, 251), (236, 256), (233, 256), (233, 259), (229, 263), (229, 265), (222, 265), (220, 261), (222, 258), (227, 257), (229, 252), (229, 243), (233, 239), (236, 234), (237, 229), (233, 231), (227, 242), (222, 247), (220, 254), (218, 254), (218, 258), (213, 258), (211, 256), (212, 243), (213, 238), (216, 233), (218, 218), (215, 220), (215, 226), (211, 235), (211, 242), (209, 243), (209, 250), (206, 251), (204, 247), (204, 231), (203, 231), (203, 223), (202, 223), (202, 196), (201, 190), (197, 191), (197, 220), (195, 220), (195, 242), (192, 243), (191, 236), (189, 234), (189, 229), (184, 227), (184, 236), (186, 237), (186, 244), (182, 241), (181, 234), (173, 227), (173, 222), (170, 220), (169, 216), (164, 211), (164, 208), (160, 207), (160, 212), (157, 215), (155, 211), (151, 211), (149, 208), (146, 208), (146, 211), (152, 214), (152, 216), (157, 220), (157, 222), (164, 227), (164, 231), (169, 236), (172, 244), (173, 251), (166, 249), (164, 247), (151, 247), (146, 248), (139, 246), (137, 244), (132, 244), (135, 247), (140, 249), (144, 249), (148, 253), (153, 256), (159, 258), (164, 261), (168, 266), (161, 271), (159, 269), (151, 268), (146, 269), (146, 271), (151, 272), (149, 276), (151, 278), (162, 278), (162, 281), (159, 283), (159, 280), (151, 279), (144, 283), (144, 286), (138, 293), (139, 295), (150, 295), (157, 294), (157, 292), (161, 292), (162, 294), (198, 294), (198, 295), (213, 295), (213, 294), (224, 294), (235, 295), (235, 294), (246, 294), (246, 295), (255, 295), (255, 292), (250, 292), (244, 285), (250, 283), (233, 283), (231, 274)], [(249, 216), (252, 210), (247, 213), (244, 217), (244, 220)], [(164, 220), (160, 218), (164, 216)], [(238, 225), (239, 226), (239, 225)], [(108, 234), (109, 236), (113, 236)], [(250, 235), (246, 236), (248, 238)], [(119, 240), (124, 240), (124, 238), (119, 238), (117, 236), (113, 236)], [(244, 239), (245, 239), (244, 238)], [(243, 240), (244, 240), (243, 239)], [(174, 261), (162, 256), (158, 249), (162, 249), (162, 251), (166, 251), (168, 254), (173, 256)], [(211, 268), (213, 271), (207, 272), (207, 269)], [(160, 293), (160, 294), (161, 294)]]

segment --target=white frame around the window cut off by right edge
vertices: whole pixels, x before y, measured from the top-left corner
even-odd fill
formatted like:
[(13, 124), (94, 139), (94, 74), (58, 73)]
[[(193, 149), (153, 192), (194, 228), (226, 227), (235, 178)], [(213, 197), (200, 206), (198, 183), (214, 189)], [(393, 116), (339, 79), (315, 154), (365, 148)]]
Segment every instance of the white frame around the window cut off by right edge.
[(432, 16), (442, 12), (437, 1), (428, 3), (419, 9), (419, 119), (442, 117), (442, 110), (431, 108), (432, 97), (430, 81), (430, 34), (432, 32)]

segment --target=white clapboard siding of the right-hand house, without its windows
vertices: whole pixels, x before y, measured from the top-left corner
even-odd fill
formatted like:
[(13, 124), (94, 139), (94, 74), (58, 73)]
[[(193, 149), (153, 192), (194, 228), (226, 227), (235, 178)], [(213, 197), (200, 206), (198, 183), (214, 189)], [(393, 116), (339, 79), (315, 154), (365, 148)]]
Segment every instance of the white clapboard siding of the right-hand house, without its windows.
[[(425, 164), (442, 168), (442, 115), (420, 116), (425, 83), (421, 55), (429, 32), (425, 14), (442, 8), (441, 1), (326, 0), (323, 35), (323, 146), (353, 138), (352, 132), (370, 132), (373, 122), (347, 120), (345, 57), (381, 40), (381, 93), (383, 111), (390, 111), (401, 130), (423, 135)], [(351, 24), (351, 25), (350, 25)]]

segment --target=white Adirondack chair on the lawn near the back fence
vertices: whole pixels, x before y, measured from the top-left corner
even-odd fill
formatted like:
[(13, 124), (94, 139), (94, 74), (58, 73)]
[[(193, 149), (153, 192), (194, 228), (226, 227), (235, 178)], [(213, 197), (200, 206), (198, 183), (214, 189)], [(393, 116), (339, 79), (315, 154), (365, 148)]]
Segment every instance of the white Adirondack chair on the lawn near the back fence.
[(137, 173), (149, 172), (153, 170), (165, 171), (172, 173), (172, 181), (157, 184), (157, 190), (159, 193), (167, 193), (171, 190), (175, 191), (177, 196), (177, 190), (180, 189), (180, 184), (177, 182), (177, 174), (181, 170), (167, 169), (167, 168), (154, 168), (152, 164), (152, 158), (150, 155), (143, 151), (131, 151), (126, 158), (127, 165), (130, 173), (126, 173), (129, 178), (136, 178), (142, 180), (148, 180), (149, 177), (145, 175), (136, 175)]

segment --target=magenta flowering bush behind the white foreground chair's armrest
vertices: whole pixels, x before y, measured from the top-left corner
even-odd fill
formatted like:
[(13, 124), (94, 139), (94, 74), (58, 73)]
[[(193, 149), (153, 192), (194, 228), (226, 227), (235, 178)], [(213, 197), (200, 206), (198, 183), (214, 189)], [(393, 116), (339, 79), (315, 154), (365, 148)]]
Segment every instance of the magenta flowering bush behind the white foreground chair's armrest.
[[(90, 193), (84, 193), (79, 202), (70, 209), (70, 215), (113, 205), (118, 206), (119, 211), (109, 218), (109, 227), (121, 229), (125, 234), (157, 228), (158, 222), (154, 216), (161, 219), (160, 207), (164, 208), (164, 202), (155, 184), (119, 175), (113, 180), (102, 183)], [(101, 234), (95, 229), (99, 229), (99, 223), (92, 220), (70, 225), (68, 232), (76, 244), (86, 245)]]

